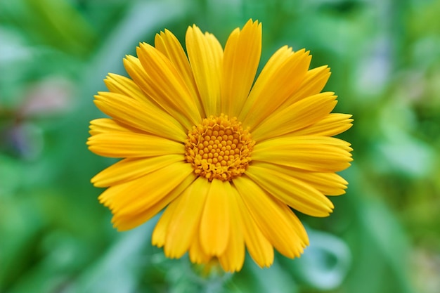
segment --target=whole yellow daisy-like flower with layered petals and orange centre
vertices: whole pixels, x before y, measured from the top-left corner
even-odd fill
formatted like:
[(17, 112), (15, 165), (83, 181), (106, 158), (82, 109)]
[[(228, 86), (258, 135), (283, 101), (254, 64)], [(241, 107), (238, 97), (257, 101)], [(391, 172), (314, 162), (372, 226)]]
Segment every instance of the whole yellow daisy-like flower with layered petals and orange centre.
[[(155, 46), (127, 56), (131, 77), (108, 74), (108, 92), (95, 96), (110, 118), (91, 122), (88, 145), (124, 158), (91, 182), (118, 230), (141, 225), (165, 209), (153, 245), (170, 258), (189, 252), (194, 263), (218, 259), (240, 271), (245, 248), (261, 267), (273, 248), (293, 258), (309, 244), (292, 209), (328, 216), (326, 195), (341, 195), (350, 144), (332, 138), (351, 115), (330, 113), (321, 93), (327, 66), (309, 70), (309, 51), (283, 46), (255, 80), (261, 23), (235, 29), (223, 50), (198, 27), (186, 32), (188, 57), (165, 30)], [(292, 208), (292, 209), (290, 209)]]

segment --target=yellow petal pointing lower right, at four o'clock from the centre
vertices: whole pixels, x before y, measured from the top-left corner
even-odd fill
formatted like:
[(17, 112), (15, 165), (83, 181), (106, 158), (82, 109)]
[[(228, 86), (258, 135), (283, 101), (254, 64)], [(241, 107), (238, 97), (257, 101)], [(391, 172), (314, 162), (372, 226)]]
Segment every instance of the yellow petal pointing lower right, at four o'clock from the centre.
[(323, 193), (281, 171), (271, 164), (260, 163), (252, 164), (246, 174), (267, 193), (303, 214), (328, 216), (332, 212), (333, 204)]

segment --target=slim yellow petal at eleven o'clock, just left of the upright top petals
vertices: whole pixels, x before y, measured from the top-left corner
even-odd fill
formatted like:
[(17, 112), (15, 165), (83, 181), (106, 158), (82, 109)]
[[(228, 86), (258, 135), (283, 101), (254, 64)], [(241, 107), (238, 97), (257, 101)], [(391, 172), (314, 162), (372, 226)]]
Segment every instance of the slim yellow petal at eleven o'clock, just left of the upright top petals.
[(179, 71), (186, 86), (188, 86), (191, 96), (193, 96), (194, 101), (197, 104), (199, 112), (203, 113), (202, 102), (200, 100), (197, 85), (195, 84), (193, 71), (191, 70), (188, 57), (186, 57), (186, 53), (183, 51), (179, 40), (174, 34), (172, 34), (172, 32), (165, 30), (165, 32), (156, 34), (155, 48), (164, 54), (164, 56), (167, 56), (167, 58), (173, 63), (174, 67), (176, 67), (176, 70)]

